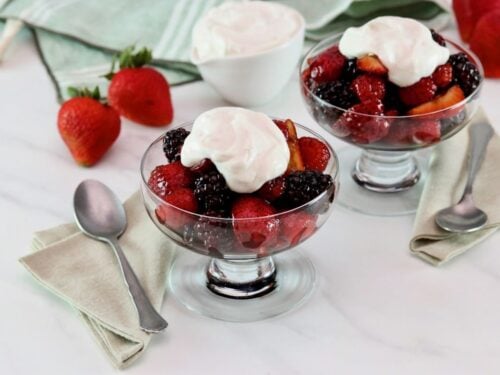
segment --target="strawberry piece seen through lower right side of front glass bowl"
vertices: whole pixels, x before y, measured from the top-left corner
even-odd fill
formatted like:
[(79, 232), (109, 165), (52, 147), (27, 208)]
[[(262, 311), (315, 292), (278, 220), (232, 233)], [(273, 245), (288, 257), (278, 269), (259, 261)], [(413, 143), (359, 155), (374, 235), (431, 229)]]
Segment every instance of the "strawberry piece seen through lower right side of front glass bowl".
[(280, 220), (280, 236), (284, 237), (290, 246), (295, 246), (314, 233), (316, 220), (316, 215), (303, 211), (285, 215)]

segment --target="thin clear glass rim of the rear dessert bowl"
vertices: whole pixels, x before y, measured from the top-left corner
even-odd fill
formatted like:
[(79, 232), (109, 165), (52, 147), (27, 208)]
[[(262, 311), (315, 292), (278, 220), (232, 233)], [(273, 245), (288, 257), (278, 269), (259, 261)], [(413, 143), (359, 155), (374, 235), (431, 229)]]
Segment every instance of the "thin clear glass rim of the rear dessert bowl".
[(343, 35), (343, 33), (337, 33), (335, 35), (329, 36), (329, 37), (327, 37), (327, 38), (319, 41), (318, 43), (315, 43), (307, 51), (307, 53), (302, 58), (301, 63), (300, 63), (299, 81), (300, 81), (301, 87), (307, 91), (307, 94), (310, 95), (313, 98), (314, 101), (319, 102), (319, 104), (321, 106), (323, 106), (323, 107), (332, 108), (332, 109), (338, 110), (338, 111), (343, 112), (343, 113), (352, 113), (352, 114), (354, 114), (356, 116), (364, 116), (364, 117), (369, 117), (369, 118), (384, 118), (384, 119), (390, 119), (390, 120), (397, 120), (397, 119), (400, 119), (400, 120), (401, 119), (403, 119), (403, 120), (406, 120), (406, 119), (425, 119), (428, 116), (436, 116), (436, 115), (439, 115), (441, 113), (445, 113), (445, 112), (448, 112), (450, 110), (454, 110), (454, 109), (457, 109), (459, 107), (464, 106), (470, 100), (472, 100), (472, 98), (476, 97), (477, 93), (481, 90), (481, 88), (483, 86), (483, 83), (484, 83), (484, 69), (483, 69), (483, 65), (481, 64), (481, 61), (479, 60), (479, 58), (472, 51), (470, 51), (469, 49), (463, 47), (458, 42), (443, 37), (443, 39), (447, 43), (450, 43), (452, 46), (454, 46), (460, 52), (464, 52), (469, 57), (472, 57), (472, 59), (474, 60), (473, 61), (474, 64), (476, 65), (477, 69), (479, 70), (479, 73), (481, 74), (481, 81), (479, 82), (479, 85), (474, 89), (473, 92), (471, 92), (468, 96), (466, 96), (460, 102), (455, 103), (455, 104), (453, 104), (450, 107), (446, 107), (446, 108), (443, 108), (443, 109), (440, 109), (440, 110), (434, 111), (434, 112), (428, 112), (428, 113), (422, 113), (422, 114), (416, 114), (416, 115), (402, 115), (402, 116), (400, 116), (400, 115), (398, 115), (398, 116), (372, 115), (372, 114), (367, 114), (367, 113), (352, 111), (352, 110), (349, 110), (348, 108), (346, 109), (346, 108), (338, 107), (336, 105), (328, 103), (327, 101), (321, 99), (316, 94), (314, 94), (313, 91), (311, 91), (311, 89), (302, 80), (302, 72), (304, 71), (304, 67), (307, 64), (307, 60), (312, 57), (311, 56), (312, 52), (315, 51), (316, 48), (318, 48), (321, 44), (325, 44), (325, 45), (330, 46), (330, 44), (328, 42), (330, 42), (332, 40), (335, 40), (337, 38), (340, 38), (342, 35)]

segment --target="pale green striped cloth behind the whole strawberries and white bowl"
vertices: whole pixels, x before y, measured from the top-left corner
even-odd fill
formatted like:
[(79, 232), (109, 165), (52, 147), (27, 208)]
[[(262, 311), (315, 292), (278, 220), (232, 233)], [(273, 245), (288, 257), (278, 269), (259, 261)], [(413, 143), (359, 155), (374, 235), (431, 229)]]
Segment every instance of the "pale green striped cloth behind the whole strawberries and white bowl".
[[(310, 41), (380, 15), (414, 17), (440, 28), (448, 20), (442, 1), (277, 0), (302, 12)], [(109, 71), (113, 53), (131, 44), (152, 48), (153, 65), (171, 85), (200, 79), (189, 60), (191, 30), (199, 17), (222, 2), (0, 0), (0, 20), (22, 20), (32, 29), (62, 101), (69, 86), (99, 86), (101, 93), (107, 92), (108, 82), (101, 76)]]

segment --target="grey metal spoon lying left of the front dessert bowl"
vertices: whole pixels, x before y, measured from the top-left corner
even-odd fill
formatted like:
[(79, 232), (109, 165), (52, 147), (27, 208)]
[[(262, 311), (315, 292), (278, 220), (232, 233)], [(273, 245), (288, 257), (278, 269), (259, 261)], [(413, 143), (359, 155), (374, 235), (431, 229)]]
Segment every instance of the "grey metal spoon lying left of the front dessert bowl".
[(167, 327), (167, 322), (151, 305), (118, 244), (118, 237), (127, 226), (125, 209), (121, 202), (106, 185), (95, 180), (85, 180), (76, 188), (73, 204), (76, 222), (80, 229), (88, 236), (106, 242), (113, 248), (125, 284), (137, 309), (141, 329), (150, 333), (163, 331)]

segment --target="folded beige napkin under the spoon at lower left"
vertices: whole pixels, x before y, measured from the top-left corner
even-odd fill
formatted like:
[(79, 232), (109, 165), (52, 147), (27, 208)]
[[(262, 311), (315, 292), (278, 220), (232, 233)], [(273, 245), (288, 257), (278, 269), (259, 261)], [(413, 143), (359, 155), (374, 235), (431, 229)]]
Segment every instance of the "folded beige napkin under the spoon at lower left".
[[(125, 202), (128, 226), (120, 237), (132, 268), (160, 311), (174, 244), (151, 222), (140, 192)], [(20, 262), (46, 288), (76, 308), (101, 348), (118, 368), (137, 359), (151, 335), (139, 328), (137, 312), (108, 245), (75, 224), (35, 233), (34, 253)]]

